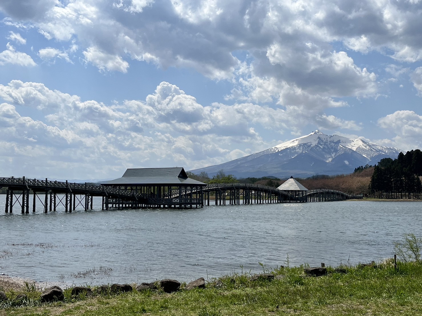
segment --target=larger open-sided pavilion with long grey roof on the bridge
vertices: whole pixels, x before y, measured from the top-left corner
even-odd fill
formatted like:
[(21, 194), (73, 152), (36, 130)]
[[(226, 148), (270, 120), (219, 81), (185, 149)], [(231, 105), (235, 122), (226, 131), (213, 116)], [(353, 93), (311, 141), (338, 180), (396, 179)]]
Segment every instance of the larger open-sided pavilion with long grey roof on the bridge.
[[(122, 207), (192, 208), (203, 207), (206, 183), (189, 178), (183, 168), (137, 168), (127, 169), (122, 177), (103, 181), (101, 185), (143, 196), (137, 206)], [(106, 209), (108, 206), (120, 208), (120, 201), (107, 200)]]

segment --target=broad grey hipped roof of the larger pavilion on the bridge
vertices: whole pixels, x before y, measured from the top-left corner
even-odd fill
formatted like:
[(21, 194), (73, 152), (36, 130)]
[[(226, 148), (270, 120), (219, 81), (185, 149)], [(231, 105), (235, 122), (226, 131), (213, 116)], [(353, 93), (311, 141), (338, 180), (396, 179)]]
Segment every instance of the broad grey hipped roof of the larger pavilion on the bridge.
[(188, 178), (183, 168), (126, 169), (118, 179), (103, 181), (103, 185), (199, 185), (206, 183)]

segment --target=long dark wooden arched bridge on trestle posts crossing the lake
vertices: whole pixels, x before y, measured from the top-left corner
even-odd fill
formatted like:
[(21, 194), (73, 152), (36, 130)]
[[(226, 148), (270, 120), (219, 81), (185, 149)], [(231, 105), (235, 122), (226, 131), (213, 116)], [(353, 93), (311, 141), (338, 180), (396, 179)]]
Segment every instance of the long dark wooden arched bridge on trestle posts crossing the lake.
[(349, 195), (335, 190), (286, 191), (274, 187), (250, 183), (219, 183), (205, 187), (185, 186), (183, 190), (168, 188), (162, 196), (157, 196), (154, 186), (149, 190), (138, 192), (130, 187), (109, 187), (103, 185), (87, 185), (80, 183), (49, 181), (48, 179), (0, 178), (0, 188), (7, 187), (5, 212), (12, 213), (15, 205), (22, 213), (29, 213), (30, 192), (32, 195), (32, 212), (36, 204), (41, 203), (43, 212), (55, 211), (59, 205), (65, 212), (72, 212), (81, 206), (85, 210), (92, 209), (92, 197), (101, 196), (102, 209), (111, 207), (179, 207), (192, 208), (204, 205), (236, 205), (236, 204), (272, 204), (338, 201), (351, 198), (362, 198), (362, 195)]

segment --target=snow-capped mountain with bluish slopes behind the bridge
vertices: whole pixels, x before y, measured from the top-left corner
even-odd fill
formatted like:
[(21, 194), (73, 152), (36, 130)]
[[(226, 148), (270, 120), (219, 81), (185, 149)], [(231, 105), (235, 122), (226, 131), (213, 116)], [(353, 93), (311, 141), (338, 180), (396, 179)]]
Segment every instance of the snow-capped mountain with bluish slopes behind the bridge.
[(223, 169), (236, 177), (311, 177), (316, 174), (349, 174), (358, 166), (378, 163), (382, 158), (397, 158), (402, 150), (349, 139), (338, 135), (325, 135), (314, 131), (281, 143), (267, 150), (235, 159), (220, 165), (192, 170), (213, 176)]

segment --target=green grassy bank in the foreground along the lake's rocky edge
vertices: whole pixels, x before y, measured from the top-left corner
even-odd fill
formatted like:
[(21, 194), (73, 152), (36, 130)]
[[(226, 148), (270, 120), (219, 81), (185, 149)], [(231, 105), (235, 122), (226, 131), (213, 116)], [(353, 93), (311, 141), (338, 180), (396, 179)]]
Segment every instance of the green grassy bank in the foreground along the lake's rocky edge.
[[(372, 266), (327, 268), (325, 276), (308, 276), (303, 266), (271, 271), (280, 279), (251, 281), (248, 273), (210, 280), (205, 289), (162, 290), (72, 297), (40, 303), (29, 286), (26, 299), (1, 303), (0, 315), (422, 315), (422, 265), (391, 260)], [(268, 271), (267, 271), (268, 272)], [(182, 284), (183, 286), (183, 284)]]

